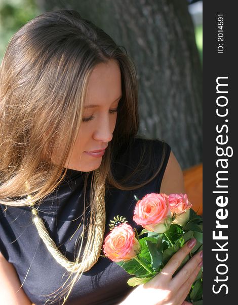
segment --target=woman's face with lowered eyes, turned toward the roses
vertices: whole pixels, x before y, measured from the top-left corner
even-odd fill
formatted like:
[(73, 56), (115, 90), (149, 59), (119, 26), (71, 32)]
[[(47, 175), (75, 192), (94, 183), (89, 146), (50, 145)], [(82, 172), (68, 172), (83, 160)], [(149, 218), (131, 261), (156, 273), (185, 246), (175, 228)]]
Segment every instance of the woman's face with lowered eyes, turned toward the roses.
[(89, 78), (83, 121), (69, 163), (67, 159), (65, 167), (92, 171), (100, 166), (102, 154), (88, 152), (103, 150), (112, 140), (117, 117), (116, 108), (121, 97), (121, 71), (118, 64), (115, 60), (98, 64)]

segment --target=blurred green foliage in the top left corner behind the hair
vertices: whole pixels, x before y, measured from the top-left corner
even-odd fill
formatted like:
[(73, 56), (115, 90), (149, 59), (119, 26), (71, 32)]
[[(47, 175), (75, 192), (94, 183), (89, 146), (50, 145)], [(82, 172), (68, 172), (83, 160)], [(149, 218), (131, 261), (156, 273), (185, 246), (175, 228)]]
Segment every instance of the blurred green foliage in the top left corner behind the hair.
[(0, 60), (13, 34), (39, 14), (35, 0), (0, 0)]

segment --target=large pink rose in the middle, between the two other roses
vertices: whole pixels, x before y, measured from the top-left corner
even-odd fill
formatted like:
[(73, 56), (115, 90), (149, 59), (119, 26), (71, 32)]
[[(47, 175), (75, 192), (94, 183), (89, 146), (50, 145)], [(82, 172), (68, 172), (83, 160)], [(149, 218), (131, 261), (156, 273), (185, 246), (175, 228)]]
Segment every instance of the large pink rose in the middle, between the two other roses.
[(169, 196), (151, 193), (137, 201), (133, 220), (148, 231), (164, 233), (171, 224)]

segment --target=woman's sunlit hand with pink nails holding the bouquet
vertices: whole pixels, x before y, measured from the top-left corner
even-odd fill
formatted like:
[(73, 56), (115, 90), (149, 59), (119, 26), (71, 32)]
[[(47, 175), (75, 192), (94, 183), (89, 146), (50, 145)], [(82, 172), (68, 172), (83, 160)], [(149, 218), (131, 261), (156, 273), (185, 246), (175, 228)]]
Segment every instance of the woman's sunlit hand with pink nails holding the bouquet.
[(149, 282), (135, 288), (121, 305), (188, 305), (184, 301), (190, 291), (197, 273), (199, 273), (203, 252), (194, 255), (172, 278), (184, 258), (195, 246), (196, 239), (192, 238), (168, 261), (165, 267)]

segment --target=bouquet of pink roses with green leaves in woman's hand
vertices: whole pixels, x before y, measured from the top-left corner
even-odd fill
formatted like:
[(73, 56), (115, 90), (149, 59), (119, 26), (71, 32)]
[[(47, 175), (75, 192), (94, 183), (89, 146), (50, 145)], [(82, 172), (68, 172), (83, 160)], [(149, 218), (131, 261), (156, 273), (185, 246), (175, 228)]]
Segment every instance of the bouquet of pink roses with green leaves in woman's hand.
[[(122, 216), (110, 221), (110, 234), (105, 238), (103, 251), (130, 275), (128, 284), (136, 286), (151, 280), (162, 270), (172, 255), (190, 238), (196, 245), (179, 269), (203, 248), (203, 220), (191, 209), (186, 194), (151, 193), (139, 200), (133, 220), (144, 229), (140, 234)], [(202, 301), (202, 269), (186, 298), (194, 305)]]

